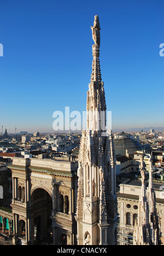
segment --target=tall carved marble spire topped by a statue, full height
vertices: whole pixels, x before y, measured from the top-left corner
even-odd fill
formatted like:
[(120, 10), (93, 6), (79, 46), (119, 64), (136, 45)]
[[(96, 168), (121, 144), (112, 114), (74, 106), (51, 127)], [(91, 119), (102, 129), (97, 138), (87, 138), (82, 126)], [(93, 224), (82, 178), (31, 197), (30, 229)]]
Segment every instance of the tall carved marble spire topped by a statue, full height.
[(106, 99), (99, 64), (97, 15), (91, 29), (95, 44), (92, 45), (92, 74), (87, 91), (87, 130), (82, 132), (79, 150), (77, 238), (78, 245), (116, 245), (115, 152), (112, 132), (102, 136), (101, 129), (106, 120)]

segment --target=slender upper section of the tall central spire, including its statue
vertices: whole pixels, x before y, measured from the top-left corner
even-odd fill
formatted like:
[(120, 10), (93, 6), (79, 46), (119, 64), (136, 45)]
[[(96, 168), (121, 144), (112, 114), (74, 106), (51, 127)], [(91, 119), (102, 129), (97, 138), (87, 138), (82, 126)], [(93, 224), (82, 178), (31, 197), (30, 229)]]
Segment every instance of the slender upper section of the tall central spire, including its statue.
[(97, 15), (91, 29), (95, 44), (92, 45), (92, 74), (89, 91), (87, 92), (87, 129), (101, 131), (101, 127), (104, 127), (102, 122), (106, 120), (106, 114), (104, 118), (101, 116), (102, 112), (106, 112), (106, 98), (99, 63), (100, 27)]

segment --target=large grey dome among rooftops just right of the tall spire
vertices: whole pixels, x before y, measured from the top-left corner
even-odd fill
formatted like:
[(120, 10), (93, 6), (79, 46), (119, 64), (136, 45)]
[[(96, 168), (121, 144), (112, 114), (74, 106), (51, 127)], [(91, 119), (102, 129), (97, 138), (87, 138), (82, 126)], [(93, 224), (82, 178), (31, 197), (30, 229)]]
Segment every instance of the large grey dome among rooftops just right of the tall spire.
[(114, 139), (114, 148), (116, 155), (125, 155), (126, 150), (127, 153), (133, 153), (136, 150), (141, 149), (142, 145), (135, 139), (131, 138), (128, 133), (121, 132)]

